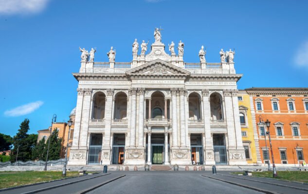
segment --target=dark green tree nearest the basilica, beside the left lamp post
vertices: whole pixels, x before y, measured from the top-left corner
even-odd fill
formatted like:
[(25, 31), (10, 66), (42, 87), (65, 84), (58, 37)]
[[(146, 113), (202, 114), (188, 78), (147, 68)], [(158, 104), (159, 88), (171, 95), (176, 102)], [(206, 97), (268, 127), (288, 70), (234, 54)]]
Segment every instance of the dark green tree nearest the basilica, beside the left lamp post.
[[(60, 159), (60, 152), (61, 152), (61, 143), (62, 138), (58, 138), (59, 130), (56, 128), (52, 132), (50, 138), (50, 146), (49, 146), (49, 153), (48, 153), (48, 160), (58, 160)], [(44, 149), (44, 161), (46, 161), (47, 149), (48, 149), (48, 142), (49, 138), (47, 139), (46, 146)]]

